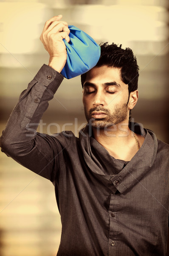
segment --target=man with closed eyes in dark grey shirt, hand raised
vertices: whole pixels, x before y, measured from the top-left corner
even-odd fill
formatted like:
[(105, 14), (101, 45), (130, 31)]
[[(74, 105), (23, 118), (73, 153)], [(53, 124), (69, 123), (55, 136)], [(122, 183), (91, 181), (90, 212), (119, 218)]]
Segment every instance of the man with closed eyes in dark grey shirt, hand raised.
[[(52, 136), (34, 133), (62, 82), (69, 29), (62, 16), (45, 23), (49, 52), (21, 93), (1, 137), (14, 160), (55, 185), (62, 221), (58, 256), (164, 256), (169, 213), (169, 146), (129, 124), (138, 100), (138, 66), (130, 49), (101, 46), (101, 58), (82, 75), (87, 126)], [(29, 128), (29, 129), (28, 129)]]

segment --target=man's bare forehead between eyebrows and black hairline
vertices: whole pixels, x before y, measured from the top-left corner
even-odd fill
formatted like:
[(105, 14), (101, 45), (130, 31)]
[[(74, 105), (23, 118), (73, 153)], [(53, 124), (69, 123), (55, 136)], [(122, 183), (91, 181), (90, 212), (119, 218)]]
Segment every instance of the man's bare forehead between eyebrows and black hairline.
[(85, 82), (87, 81), (90, 81), (91, 83), (96, 85), (115, 81), (121, 86), (126, 86), (126, 84), (121, 81), (121, 70), (115, 67), (93, 67), (86, 73)]

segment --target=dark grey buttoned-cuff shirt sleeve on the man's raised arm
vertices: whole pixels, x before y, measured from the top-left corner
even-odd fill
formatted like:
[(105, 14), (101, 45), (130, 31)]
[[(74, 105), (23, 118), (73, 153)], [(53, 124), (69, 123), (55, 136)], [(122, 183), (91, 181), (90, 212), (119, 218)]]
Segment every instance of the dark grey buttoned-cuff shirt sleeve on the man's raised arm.
[(51, 181), (55, 179), (63, 148), (54, 137), (36, 130), (62, 80), (60, 73), (44, 64), (21, 93), (0, 138), (4, 153)]

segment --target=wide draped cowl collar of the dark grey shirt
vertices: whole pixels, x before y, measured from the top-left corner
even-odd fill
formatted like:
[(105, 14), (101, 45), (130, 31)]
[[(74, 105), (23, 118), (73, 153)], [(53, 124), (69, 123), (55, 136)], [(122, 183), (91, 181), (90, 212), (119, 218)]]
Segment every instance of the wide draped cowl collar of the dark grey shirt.
[(132, 131), (137, 129), (137, 133), (144, 134), (145, 140), (124, 168), (125, 161), (111, 157), (108, 151), (91, 137), (89, 125), (79, 132), (87, 166), (112, 192), (118, 189), (121, 194), (127, 192), (136, 183), (141, 183), (141, 178), (151, 168), (157, 153), (157, 138), (152, 131), (143, 129), (137, 123), (130, 123), (130, 127)]

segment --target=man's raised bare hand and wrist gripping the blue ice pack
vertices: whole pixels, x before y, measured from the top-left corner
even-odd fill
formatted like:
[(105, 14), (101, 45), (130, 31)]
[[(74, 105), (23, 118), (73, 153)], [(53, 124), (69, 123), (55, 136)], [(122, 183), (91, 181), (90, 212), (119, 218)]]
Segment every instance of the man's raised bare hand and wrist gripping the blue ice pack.
[(61, 21), (62, 15), (47, 20), (40, 36), (45, 49), (50, 55), (49, 66), (61, 72), (67, 60), (66, 46), (63, 38), (69, 42), (68, 23)]

